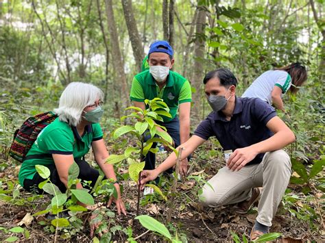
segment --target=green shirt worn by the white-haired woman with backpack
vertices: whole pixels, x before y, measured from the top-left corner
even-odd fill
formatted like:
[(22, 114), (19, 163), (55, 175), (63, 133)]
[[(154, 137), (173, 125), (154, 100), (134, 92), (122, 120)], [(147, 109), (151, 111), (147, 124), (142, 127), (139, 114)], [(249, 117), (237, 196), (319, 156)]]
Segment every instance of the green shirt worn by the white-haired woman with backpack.
[(37, 164), (47, 166), (53, 164), (53, 157), (47, 155), (61, 154), (73, 155), (80, 159), (91, 148), (91, 142), (103, 138), (101, 127), (98, 123), (86, 126), (82, 137), (75, 127), (60, 121), (59, 118), (47, 125), (40, 133), (26, 156), (45, 155), (42, 159), (26, 159), (19, 171), (19, 183), (23, 186), (25, 179), (33, 179)]

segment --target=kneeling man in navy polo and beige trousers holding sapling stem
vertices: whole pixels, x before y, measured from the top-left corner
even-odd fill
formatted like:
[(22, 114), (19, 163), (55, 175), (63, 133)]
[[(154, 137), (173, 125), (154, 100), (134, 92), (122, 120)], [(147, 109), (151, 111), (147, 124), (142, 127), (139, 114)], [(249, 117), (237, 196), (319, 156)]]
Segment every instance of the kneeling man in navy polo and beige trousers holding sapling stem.
[[(217, 137), (226, 152), (226, 166), (204, 186), (200, 199), (210, 207), (237, 203), (237, 212), (245, 214), (261, 194), (250, 235), (256, 240), (269, 231), (289, 183), (291, 162), (282, 149), (296, 138), (266, 102), (235, 96), (237, 79), (228, 69), (211, 71), (203, 82), (213, 112), (178, 149), (183, 149), (184, 158), (210, 136)], [(155, 170), (142, 172), (141, 185), (175, 164), (176, 154), (171, 153)], [(263, 192), (258, 188), (262, 186)]]

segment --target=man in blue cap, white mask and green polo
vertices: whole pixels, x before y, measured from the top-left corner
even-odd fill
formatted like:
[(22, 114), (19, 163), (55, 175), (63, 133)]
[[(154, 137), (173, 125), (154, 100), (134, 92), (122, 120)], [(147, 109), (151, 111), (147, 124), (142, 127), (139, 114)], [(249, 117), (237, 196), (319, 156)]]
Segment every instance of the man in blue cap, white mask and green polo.
[[(191, 85), (182, 75), (170, 71), (174, 62), (173, 49), (167, 41), (159, 40), (152, 43), (147, 59), (149, 70), (134, 76), (130, 99), (136, 107), (143, 110), (145, 99), (152, 100), (156, 97), (163, 99), (170, 109), (171, 118), (163, 116), (164, 121), (157, 120), (156, 123), (166, 127), (177, 147), (189, 140)], [(149, 152), (145, 157), (145, 170), (153, 170), (155, 162), (154, 153)], [(187, 158), (183, 159), (180, 165), (181, 174), (186, 175), (187, 165)]]

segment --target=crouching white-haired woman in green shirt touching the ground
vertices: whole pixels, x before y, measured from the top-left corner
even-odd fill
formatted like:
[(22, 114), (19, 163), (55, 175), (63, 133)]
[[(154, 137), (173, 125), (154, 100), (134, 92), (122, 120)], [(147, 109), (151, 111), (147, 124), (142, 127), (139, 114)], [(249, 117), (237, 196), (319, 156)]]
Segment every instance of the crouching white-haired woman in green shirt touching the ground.
[[(95, 161), (106, 178), (115, 181), (113, 183), (118, 197), (117, 199), (111, 197), (108, 205), (115, 201), (117, 212), (126, 214), (114, 168), (111, 164), (105, 163), (109, 155), (99, 125), (103, 114), (102, 99), (103, 92), (92, 84), (73, 82), (64, 89), (60, 105), (54, 110), (58, 118), (38, 134), (19, 171), (19, 182), (25, 190), (43, 193), (38, 184), (44, 179), (35, 169), (36, 165), (43, 165), (51, 171), (51, 182), (65, 192), (68, 171), (73, 162), (80, 168), (78, 178), (82, 181), (91, 181), (91, 187), (95, 186), (99, 172), (82, 159), (92, 147)], [(80, 188), (82, 184), (77, 183), (77, 189)], [(87, 206), (83, 203), (80, 205)]]

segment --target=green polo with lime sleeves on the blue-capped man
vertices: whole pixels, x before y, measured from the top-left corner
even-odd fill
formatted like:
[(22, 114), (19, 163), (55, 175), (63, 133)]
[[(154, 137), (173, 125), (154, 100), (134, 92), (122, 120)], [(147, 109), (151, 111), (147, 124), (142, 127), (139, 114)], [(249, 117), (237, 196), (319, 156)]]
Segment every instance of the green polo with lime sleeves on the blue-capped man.
[(167, 83), (161, 90), (149, 70), (134, 76), (130, 92), (132, 101), (143, 102), (157, 97), (163, 99), (170, 109), (171, 118), (162, 116), (164, 122), (168, 123), (175, 118), (180, 103), (192, 101), (191, 85), (182, 75), (173, 71), (169, 71)]

